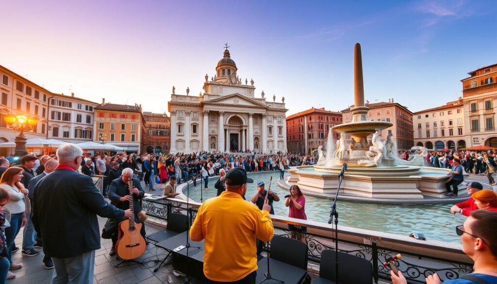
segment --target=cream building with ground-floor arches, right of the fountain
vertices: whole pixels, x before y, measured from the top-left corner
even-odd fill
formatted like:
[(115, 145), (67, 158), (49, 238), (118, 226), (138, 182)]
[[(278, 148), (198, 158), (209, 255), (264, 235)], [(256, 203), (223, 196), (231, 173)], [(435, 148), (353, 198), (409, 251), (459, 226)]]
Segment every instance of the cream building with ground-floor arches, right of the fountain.
[(465, 148), (462, 98), (413, 114), (414, 146), (427, 149)]

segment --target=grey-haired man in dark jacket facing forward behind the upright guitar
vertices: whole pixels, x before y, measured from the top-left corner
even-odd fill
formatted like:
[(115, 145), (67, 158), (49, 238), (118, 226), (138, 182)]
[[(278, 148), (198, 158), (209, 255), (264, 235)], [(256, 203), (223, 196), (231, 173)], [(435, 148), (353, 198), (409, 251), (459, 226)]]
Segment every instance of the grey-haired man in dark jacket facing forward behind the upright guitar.
[[(133, 182), (133, 188), (130, 189), (128, 183)], [(133, 197), (132, 197), (132, 195)], [(123, 169), (121, 177), (113, 180), (109, 186), (109, 199), (110, 204), (116, 206), (120, 209), (128, 209), (129, 202), (133, 199), (133, 210), (135, 211), (135, 221), (138, 222), (138, 213), (142, 211), (142, 206), (140, 206), (140, 200), (145, 195), (145, 191), (142, 189), (140, 180), (133, 178), (133, 170), (130, 168)], [(121, 221), (121, 220), (119, 220)], [(145, 237), (145, 225), (142, 226), (140, 231), (143, 237)], [(117, 234), (112, 235), (112, 248), (110, 249), (109, 255), (113, 256), (115, 254), (114, 247), (117, 242)]]

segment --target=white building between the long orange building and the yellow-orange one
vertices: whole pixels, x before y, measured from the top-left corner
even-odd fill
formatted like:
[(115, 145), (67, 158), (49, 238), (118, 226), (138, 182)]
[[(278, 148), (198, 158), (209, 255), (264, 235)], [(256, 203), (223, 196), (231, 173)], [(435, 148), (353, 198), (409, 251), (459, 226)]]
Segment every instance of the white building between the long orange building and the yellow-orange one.
[(93, 107), (98, 103), (69, 95), (52, 94), (48, 98), (47, 138), (71, 143), (93, 139)]

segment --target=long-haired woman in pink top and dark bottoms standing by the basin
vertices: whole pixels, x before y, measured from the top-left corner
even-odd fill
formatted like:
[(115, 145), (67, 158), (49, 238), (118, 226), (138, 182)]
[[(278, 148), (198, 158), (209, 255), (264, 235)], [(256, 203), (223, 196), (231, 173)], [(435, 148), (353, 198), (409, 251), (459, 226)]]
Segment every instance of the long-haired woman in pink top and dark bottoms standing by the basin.
[[(307, 220), (305, 205), (306, 197), (300, 190), (299, 186), (291, 186), (290, 196), (287, 197), (285, 201), (285, 206), (290, 207), (290, 213), (288, 214), (288, 217)], [(293, 239), (300, 239), (301, 241), (305, 242), (305, 236), (302, 233), (307, 232), (306, 227), (288, 224), (288, 229), (292, 231)]]

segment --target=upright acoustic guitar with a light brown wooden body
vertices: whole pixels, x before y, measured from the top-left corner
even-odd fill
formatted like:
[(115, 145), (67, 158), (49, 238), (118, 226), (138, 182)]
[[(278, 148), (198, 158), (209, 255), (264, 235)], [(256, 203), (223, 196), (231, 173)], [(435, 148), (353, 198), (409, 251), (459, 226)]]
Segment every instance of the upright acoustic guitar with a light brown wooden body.
[(135, 223), (134, 211), (134, 194), (133, 181), (128, 182), (131, 201), (129, 201), (129, 209), (131, 210), (131, 218), (123, 220), (118, 226), (118, 239), (115, 247), (117, 256), (123, 260), (131, 260), (142, 256), (146, 250), (146, 243), (143, 236), (140, 234), (143, 224)]

